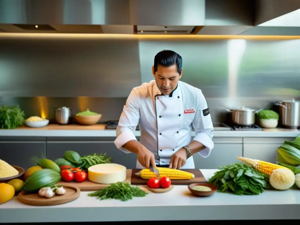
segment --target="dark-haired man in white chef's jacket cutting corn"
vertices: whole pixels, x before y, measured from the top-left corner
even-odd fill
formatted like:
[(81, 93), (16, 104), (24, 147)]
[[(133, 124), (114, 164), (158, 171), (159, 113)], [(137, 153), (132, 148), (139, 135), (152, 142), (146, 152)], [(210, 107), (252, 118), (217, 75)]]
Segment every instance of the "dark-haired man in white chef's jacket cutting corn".
[[(179, 81), (182, 72), (179, 54), (158, 52), (152, 67), (155, 80), (133, 88), (127, 98), (114, 143), (125, 153), (137, 154), (138, 169), (194, 169), (193, 155), (206, 158), (214, 147), (205, 98), (200, 89)], [(134, 135), (137, 125), (140, 142)]]

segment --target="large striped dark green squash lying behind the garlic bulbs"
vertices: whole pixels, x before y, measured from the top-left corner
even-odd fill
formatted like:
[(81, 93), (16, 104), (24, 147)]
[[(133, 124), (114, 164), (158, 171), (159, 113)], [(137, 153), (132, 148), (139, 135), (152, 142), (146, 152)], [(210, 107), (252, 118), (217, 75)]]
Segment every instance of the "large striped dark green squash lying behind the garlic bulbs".
[(59, 182), (61, 176), (59, 173), (51, 169), (41, 169), (35, 171), (29, 178), (24, 182), (21, 190), (33, 192), (38, 191), (42, 187), (51, 187)]

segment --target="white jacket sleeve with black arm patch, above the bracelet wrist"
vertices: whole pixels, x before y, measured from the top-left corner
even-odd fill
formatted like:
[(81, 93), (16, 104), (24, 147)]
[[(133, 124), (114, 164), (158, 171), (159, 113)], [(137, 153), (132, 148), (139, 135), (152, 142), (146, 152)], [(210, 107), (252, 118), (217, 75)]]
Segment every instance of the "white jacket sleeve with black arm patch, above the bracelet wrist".
[(198, 141), (205, 146), (205, 149), (198, 153), (203, 158), (206, 158), (210, 155), (211, 149), (214, 148), (214, 143), (212, 141), (214, 127), (212, 125), (209, 109), (202, 91), (200, 91), (197, 97), (197, 112), (192, 123), (193, 128), (196, 132), (195, 138), (193, 140)]

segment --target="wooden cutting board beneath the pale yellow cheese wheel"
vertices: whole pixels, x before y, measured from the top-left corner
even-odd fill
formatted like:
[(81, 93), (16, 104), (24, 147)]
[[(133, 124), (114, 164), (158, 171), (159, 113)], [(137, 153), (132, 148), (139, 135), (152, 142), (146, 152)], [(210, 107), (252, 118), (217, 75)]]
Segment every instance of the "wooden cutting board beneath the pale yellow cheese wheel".
[[(131, 182), (131, 170), (127, 170), (126, 173), (126, 180), (123, 182)], [(72, 185), (73, 187), (78, 187), (81, 191), (96, 191), (96, 190), (101, 190), (103, 187), (110, 186), (110, 184), (97, 184), (94, 182), (91, 182), (89, 180), (86, 180), (84, 182), (64, 182), (60, 181), (57, 183), (57, 185)]]

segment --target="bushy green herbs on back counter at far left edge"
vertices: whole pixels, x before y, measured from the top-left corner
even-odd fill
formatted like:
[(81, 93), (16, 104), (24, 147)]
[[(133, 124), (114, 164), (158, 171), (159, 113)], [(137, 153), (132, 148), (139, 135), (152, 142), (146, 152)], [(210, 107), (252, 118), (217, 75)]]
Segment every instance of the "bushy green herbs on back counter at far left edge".
[(21, 126), (25, 121), (24, 116), (24, 111), (19, 106), (2, 105), (0, 109), (0, 128), (14, 129)]

